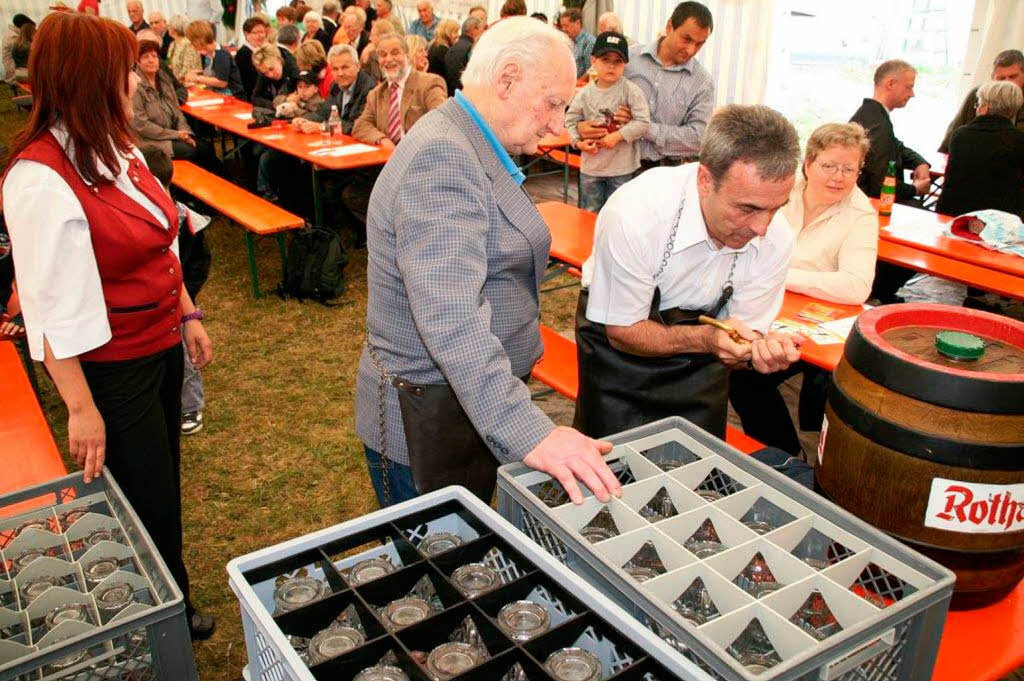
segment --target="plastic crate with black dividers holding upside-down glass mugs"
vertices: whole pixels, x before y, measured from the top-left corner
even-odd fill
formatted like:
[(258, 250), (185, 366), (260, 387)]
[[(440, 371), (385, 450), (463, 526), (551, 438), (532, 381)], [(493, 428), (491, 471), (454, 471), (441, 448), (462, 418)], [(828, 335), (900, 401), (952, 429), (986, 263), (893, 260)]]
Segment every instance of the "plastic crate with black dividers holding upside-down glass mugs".
[[(421, 542), (434, 533), (459, 540), (454, 548), (426, 555)], [(392, 571), (364, 581), (360, 563), (378, 559), (379, 565), (382, 556)], [(498, 584), (470, 598), (451, 576), (473, 562), (493, 568)], [(385, 658), (411, 681), (428, 681), (432, 676), (421, 653), (450, 641), (467, 618), (488, 656), (455, 677), (460, 681), (544, 681), (551, 678), (543, 667), (547, 656), (573, 645), (600, 659), (603, 680), (710, 681), (463, 487), (446, 487), (236, 558), (227, 572), (242, 608), (249, 652), (245, 676), (251, 681), (349, 681)], [(294, 579), (322, 585), (312, 591), (316, 599), (298, 609), (283, 607), (280, 596), (296, 584), (287, 580)], [(428, 600), (433, 613), (404, 628), (389, 627), (384, 609), (410, 593)], [(496, 624), (501, 608), (518, 600), (541, 605), (550, 620), (546, 633), (521, 643)], [(339, 618), (361, 633), (361, 643), (338, 656), (315, 656), (311, 637)], [(507, 676), (516, 665), (522, 675)]]

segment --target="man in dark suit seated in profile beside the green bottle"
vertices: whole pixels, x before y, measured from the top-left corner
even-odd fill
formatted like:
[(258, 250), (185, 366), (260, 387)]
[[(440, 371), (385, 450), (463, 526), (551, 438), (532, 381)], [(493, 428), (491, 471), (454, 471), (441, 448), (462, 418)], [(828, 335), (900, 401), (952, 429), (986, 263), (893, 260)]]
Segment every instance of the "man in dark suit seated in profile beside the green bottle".
[[(916, 76), (918, 72), (906, 61), (885, 61), (874, 70), (874, 94), (865, 98), (850, 118), (852, 123), (859, 123), (864, 128), (871, 143), (857, 180), (857, 186), (868, 197), (876, 198), (882, 193), (890, 161), (896, 162), (897, 202), (913, 205), (916, 198), (926, 194), (932, 185), (928, 162), (912, 148), (903, 145), (889, 119), (889, 112), (906, 107), (913, 96)], [(903, 181), (903, 170), (912, 171), (910, 182)], [(878, 263), (871, 298), (878, 298), (882, 304), (902, 302), (896, 292), (912, 275), (912, 270), (886, 262)]]

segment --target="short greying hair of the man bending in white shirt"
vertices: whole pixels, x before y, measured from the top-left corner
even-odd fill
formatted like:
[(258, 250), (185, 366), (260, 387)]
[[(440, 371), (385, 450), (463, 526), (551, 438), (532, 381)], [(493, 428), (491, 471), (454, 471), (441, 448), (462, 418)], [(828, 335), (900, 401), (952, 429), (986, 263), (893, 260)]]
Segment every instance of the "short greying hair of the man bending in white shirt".
[(761, 179), (793, 177), (800, 160), (797, 129), (774, 109), (728, 104), (712, 117), (700, 144), (700, 165), (716, 186), (737, 161), (754, 164)]

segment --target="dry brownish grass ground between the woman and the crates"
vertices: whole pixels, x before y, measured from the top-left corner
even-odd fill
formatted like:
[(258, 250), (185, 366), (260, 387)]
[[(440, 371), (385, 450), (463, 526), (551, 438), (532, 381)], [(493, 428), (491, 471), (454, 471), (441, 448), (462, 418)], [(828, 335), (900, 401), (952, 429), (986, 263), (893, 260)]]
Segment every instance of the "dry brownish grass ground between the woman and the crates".
[[(3, 90), (0, 145), (27, 118)], [(207, 233), (213, 268), (199, 302), (215, 359), (204, 372), (205, 428), (182, 439), (185, 564), (197, 606), (217, 618), (213, 638), (195, 646), (200, 676), (233, 681), (246, 648), (227, 561), (377, 508), (353, 432), (366, 252), (352, 253), (350, 285), (336, 307), (272, 295), (256, 300), (240, 228), (218, 217)], [(272, 241), (259, 244), (258, 260), (264, 288), (272, 287), (281, 271)], [(548, 324), (571, 328), (574, 289), (546, 294), (544, 303)], [(43, 410), (67, 456), (67, 411), (45, 374), (37, 375)], [(570, 418), (567, 400), (545, 401)], [(70, 460), (68, 466), (76, 469)]]

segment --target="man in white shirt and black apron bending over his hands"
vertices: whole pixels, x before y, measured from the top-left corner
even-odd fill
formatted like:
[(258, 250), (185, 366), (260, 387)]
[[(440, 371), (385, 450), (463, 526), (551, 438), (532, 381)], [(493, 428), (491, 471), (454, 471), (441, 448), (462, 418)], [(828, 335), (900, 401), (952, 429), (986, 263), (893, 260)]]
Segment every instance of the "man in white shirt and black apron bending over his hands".
[(792, 336), (769, 332), (794, 243), (776, 213), (799, 155), (780, 114), (731, 104), (712, 119), (699, 162), (648, 170), (612, 195), (577, 309), (577, 428), (604, 436), (678, 415), (722, 437), (727, 369), (770, 373), (800, 358)]

